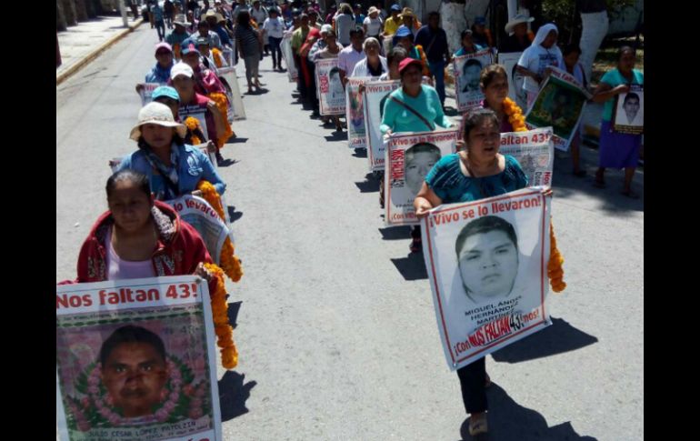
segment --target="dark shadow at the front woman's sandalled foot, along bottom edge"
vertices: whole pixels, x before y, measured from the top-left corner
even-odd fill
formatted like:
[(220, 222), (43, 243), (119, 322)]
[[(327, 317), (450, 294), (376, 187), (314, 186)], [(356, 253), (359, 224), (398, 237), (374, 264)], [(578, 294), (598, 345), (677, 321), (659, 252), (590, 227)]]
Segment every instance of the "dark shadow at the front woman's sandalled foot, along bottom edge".
[(467, 440), (497, 441), (596, 441), (593, 436), (580, 436), (570, 422), (548, 426), (544, 416), (533, 409), (520, 406), (497, 385), (486, 389), (488, 397), (488, 434), (469, 435), (469, 420), (465, 419), (459, 433)]

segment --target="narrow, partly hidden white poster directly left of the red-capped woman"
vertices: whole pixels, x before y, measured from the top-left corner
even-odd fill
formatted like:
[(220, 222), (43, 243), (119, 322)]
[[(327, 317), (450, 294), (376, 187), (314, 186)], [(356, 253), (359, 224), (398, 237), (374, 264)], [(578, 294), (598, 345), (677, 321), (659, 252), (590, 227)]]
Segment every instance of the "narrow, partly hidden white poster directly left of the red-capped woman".
[(382, 125), (386, 100), (399, 87), (401, 87), (401, 82), (398, 80), (376, 81), (365, 85), (362, 100), (365, 105), (367, 158), (369, 159), (369, 170), (373, 172), (384, 170), (385, 145), (379, 126)]

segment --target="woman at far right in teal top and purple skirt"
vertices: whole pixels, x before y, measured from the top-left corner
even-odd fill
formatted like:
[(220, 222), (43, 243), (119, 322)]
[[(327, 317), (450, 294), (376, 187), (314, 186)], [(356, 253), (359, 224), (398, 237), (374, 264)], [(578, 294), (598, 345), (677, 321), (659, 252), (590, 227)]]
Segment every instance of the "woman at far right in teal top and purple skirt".
[[(632, 47), (620, 48), (617, 68), (603, 75), (593, 95), (595, 103), (605, 103), (603, 121), (600, 125), (600, 162), (598, 171), (595, 172), (594, 185), (598, 188), (605, 187), (605, 168), (625, 168), (625, 186), (622, 194), (634, 199), (639, 197), (632, 191), (632, 178), (635, 177), (635, 168), (639, 163), (642, 135), (617, 133), (614, 131), (612, 120), (615, 97), (620, 94), (633, 95), (629, 94), (633, 87), (644, 85), (644, 73), (634, 68), (635, 61), (635, 50)], [(627, 109), (625, 109), (629, 109), (627, 117), (639, 110), (638, 97), (636, 103), (635, 105), (633, 101), (630, 105), (630, 100), (627, 100)]]

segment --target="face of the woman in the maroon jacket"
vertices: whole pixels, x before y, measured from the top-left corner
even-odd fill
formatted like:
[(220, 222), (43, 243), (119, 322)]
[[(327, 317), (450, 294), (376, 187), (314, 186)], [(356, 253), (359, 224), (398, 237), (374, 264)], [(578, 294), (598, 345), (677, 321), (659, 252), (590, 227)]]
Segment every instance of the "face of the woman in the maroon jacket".
[(120, 181), (107, 197), (107, 205), (115, 219), (115, 225), (134, 233), (150, 222), (153, 197), (145, 195), (131, 181)]

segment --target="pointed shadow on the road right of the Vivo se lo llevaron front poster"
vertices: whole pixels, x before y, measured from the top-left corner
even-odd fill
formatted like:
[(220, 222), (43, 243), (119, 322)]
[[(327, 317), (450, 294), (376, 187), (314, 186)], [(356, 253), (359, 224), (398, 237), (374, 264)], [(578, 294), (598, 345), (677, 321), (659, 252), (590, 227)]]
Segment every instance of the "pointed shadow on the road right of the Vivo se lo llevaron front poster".
[(598, 343), (595, 336), (569, 325), (561, 318), (552, 318), (552, 326), (547, 326), (532, 336), (499, 349), (491, 356), (501, 363), (520, 363), (545, 356), (555, 356), (575, 351)]

